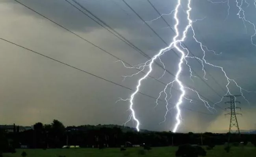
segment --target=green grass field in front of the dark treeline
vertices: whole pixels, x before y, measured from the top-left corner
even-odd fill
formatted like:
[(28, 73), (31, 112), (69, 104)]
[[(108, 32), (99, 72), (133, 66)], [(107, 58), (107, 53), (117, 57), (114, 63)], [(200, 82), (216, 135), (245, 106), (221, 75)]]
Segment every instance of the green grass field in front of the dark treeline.
[[(58, 157), (66, 155), (66, 157), (175, 157), (177, 147), (158, 147), (145, 151), (145, 155), (139, 155), (142, 148), (128, 148), (125, 152), (121, 152), (119, 148), (107, 148), (98, 150), (97, 148), (80, 148), (80, 149), (17, 149), (17, 153), (5, 153), (4, 157), (21, 157), (22, 151), (25, 151), (27, 157)], [(216, 146), (213, 150), (207, 151), (207, 157), (256, 157), (256, 147), (246, 146), (232, 147), (229, 153), (224, 151), (224, 146)]]

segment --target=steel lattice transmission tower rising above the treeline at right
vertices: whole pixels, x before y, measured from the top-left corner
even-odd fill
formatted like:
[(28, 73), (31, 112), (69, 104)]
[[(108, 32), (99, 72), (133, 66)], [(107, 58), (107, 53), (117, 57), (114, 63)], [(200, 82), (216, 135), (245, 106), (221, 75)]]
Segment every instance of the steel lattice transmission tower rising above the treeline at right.
[[(230, 104), (230, 107), (225, 109), (230, 109), (230, 113), (226, 113), (225, 115), (230, 115), (230, 124), (229, 124), (229, 133), (238, 133), (240, 135), (240, 129), (237, 122), (236, 115), (242, 115), (241, 113), (237, 113), (236, 103), (241, 104), (241, 102), (236, 101), (236, 97), (240, 97), (241, 95), (225, 95), (224, 97), (230, 97), (230, 101), (225, 102), (225, 104)], [(241, 110), (241, 108), (239, 108)], [(236, 128), (236, 129), (234, 129)]]

